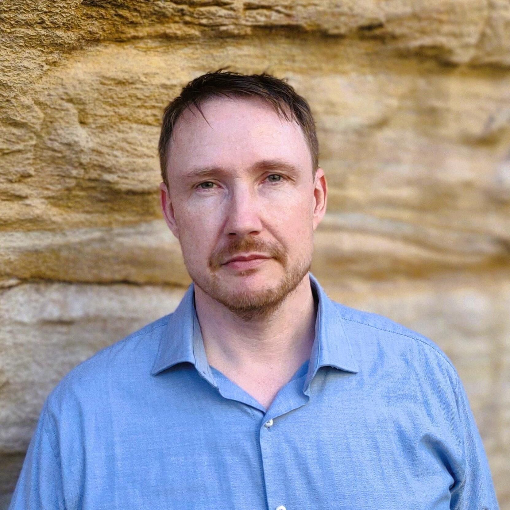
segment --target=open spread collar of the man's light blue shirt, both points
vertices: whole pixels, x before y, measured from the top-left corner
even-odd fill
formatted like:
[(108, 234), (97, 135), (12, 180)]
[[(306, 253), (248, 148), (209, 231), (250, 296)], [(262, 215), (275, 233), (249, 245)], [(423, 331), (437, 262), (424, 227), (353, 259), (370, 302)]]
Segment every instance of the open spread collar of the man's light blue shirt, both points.
[[(315, 341), (303, 386), (305, 393), (320, 367), (331, 366), (347, 372), (358, 372), (358, 366), (343, 327), (343, 319), (338, 310), (339, 305), (327, 297), (312, 273), (309, 273), (309, 276), (310, 284), (318, 299), (318, 307)], [(200, 375), (216, 387), (203, 347), (194, 298), (194, 284), (191, 284), (179, 306), (168, 319), (151, 374), (159, 374), (178, 363), (192, 363)]]

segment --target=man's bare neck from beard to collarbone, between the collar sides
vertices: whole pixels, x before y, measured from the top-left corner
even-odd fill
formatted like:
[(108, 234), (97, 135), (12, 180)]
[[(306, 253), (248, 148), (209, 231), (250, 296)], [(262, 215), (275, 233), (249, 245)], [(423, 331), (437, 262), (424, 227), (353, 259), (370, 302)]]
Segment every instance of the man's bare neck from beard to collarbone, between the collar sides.
[(243, 320), (197, 286), (195, 307), (208, 363), (224, 373), (290, 378), (310, 359), (316, 305), (308, 273), (269, 316)]

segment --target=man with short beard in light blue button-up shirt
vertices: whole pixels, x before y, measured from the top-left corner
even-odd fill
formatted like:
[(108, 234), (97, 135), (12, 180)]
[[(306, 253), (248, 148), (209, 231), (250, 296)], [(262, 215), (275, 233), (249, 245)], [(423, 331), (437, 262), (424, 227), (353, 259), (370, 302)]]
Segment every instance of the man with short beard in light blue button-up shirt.
[(309, 273), (326, 209), (307, 102), (205, 74), (165, 110), (179, 307), (46, 400), (11, 508), (498, 508), (455, 368)]

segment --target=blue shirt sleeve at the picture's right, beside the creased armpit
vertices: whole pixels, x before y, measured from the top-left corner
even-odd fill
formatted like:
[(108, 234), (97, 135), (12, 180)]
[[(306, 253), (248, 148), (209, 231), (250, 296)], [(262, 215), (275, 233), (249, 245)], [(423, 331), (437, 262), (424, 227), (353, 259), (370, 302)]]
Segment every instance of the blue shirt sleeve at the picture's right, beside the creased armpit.
[(464, 476), (451, 489), (452, 510), (498, 510), (486, 452), (471, 412), (468, 397), (456, 374), (458, 428), (464, 449)]

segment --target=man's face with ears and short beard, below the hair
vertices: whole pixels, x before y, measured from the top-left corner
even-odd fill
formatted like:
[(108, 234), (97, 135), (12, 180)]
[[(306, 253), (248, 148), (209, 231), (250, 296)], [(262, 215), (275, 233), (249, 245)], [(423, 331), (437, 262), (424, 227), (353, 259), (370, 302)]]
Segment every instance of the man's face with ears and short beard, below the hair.
[[(326, 206), (300, 126), (259, 98), (211, 98), (177, 121), (161, 185), (165, 219), (203, 292), (245, 318), (307, 275)], [(253, 260), (231, 261), (236, 257)]]

